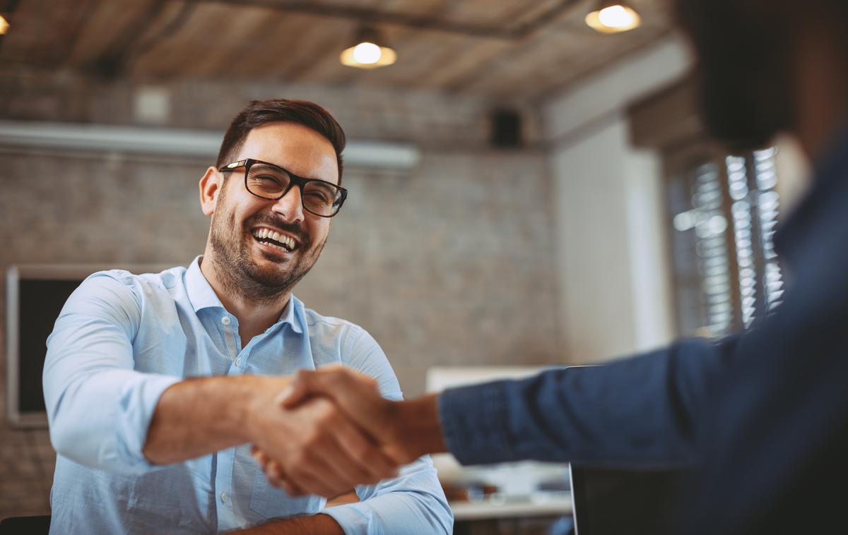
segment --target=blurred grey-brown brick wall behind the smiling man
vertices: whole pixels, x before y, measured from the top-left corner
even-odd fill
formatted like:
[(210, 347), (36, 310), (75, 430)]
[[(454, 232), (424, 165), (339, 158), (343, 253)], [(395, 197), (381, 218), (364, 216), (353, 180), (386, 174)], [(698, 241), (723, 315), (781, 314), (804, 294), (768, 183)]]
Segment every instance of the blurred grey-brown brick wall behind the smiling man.
[[(485, 147), (490, 102), (437, 94), (192, 82), (159, 85), (160, 126), (223, 131), (248, 98), (326, 105), (353, 138), (423, 147), (410, 171), (350, 168), (351, 190), (313, 272), (295, 293), (360, 323), (407, 394), (428, 367), (563, 362), (550, 176), (544, 153)], [(0, 74), (0, 118), (144, 124), (138, 85), (59, 73)], [(532, 114), (528, 138), (533, 139)], [(185, 263), (208, 221), (197, 182), (209, 162), (0, 148), (0, 268), (17, 263)], [(5, 288), (0, 289), (5, 301)], [(0, 409), (5, 317), (0, 309)], [(46, 430), (0, 420), (0, 518), (47, 512)]]

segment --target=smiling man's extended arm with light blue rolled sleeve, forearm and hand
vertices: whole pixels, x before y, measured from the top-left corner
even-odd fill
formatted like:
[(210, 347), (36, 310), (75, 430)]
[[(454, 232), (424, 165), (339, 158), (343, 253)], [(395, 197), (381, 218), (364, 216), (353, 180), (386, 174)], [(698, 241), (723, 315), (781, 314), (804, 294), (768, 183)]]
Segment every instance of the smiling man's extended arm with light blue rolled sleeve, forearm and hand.
[(45, 400), (59, 454), (132, 473), (251, 442), (273, 452), (305, 490), (322, 495), (395, 473), (328, 400), (283, 411), (274, 398), (288, 378), (181, 381), (134, 370), (131, 341), (141, 306), (126, 283), (88, 279), (48, 339)]

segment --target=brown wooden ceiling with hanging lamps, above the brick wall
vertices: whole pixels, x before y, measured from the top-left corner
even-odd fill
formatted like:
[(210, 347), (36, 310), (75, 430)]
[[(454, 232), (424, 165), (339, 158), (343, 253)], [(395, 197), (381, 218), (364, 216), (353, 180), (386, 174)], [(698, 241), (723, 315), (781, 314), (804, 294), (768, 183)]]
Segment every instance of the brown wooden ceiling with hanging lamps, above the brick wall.
[[(631, 0), (643, 25), (584, 23), (593, 0), (18, 0), (0, 64), (137, 80), (181, 78), (430, 89), (538, 100), (670, 31), (664, 0)], [(398, 52), (345, 67), (362, 20)]]

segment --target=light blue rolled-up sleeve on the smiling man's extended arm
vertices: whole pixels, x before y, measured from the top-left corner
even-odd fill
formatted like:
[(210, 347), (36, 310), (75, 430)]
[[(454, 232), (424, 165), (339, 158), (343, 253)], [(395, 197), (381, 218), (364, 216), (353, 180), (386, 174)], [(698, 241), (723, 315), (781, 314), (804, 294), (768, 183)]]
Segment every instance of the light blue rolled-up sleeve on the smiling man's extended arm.
[(142, 454), (159, 396), (180, 379), (135, 371), (141, 301), (109, 273), (86, 279), (47, 338), (43, 383), (53, 448), (110, 472), (153, 466)]

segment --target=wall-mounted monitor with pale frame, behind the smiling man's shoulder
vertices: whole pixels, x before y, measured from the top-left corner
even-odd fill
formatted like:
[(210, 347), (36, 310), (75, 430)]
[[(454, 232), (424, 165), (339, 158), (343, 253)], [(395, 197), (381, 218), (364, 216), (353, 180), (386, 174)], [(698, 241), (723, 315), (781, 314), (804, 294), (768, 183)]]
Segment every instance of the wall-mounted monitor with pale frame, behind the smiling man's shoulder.
[(88, 275), (121, 268), (158, 273), (161, 265), (18, 265), (6, 272), (6, 394), (8, 421), (14, 427), (47, 427), (42, 371), (47, 336), (59, 312)]

